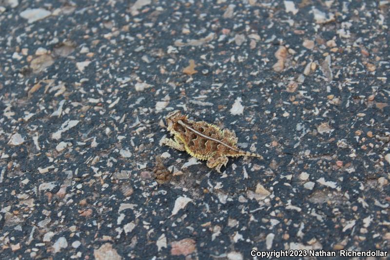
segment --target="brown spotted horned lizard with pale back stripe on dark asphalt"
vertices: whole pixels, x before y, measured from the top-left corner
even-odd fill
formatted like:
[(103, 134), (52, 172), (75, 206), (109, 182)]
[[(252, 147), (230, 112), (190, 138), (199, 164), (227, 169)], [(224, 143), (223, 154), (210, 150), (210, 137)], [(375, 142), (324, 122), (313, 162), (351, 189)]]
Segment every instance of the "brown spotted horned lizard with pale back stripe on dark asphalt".
[(241, 151), (237, 146), (234, 131), (219, 129), (205, 121), (189, 120), (180, 110), (169, 113), (166, 117), (167, 130), (174, 136), (165, 138), (162, 143), (180, 151), (186, 151), (199, 160), (207, 160), (209, 168), (221, 172), (228, 157), (253, 156), (263, 159), (259, 154)]

